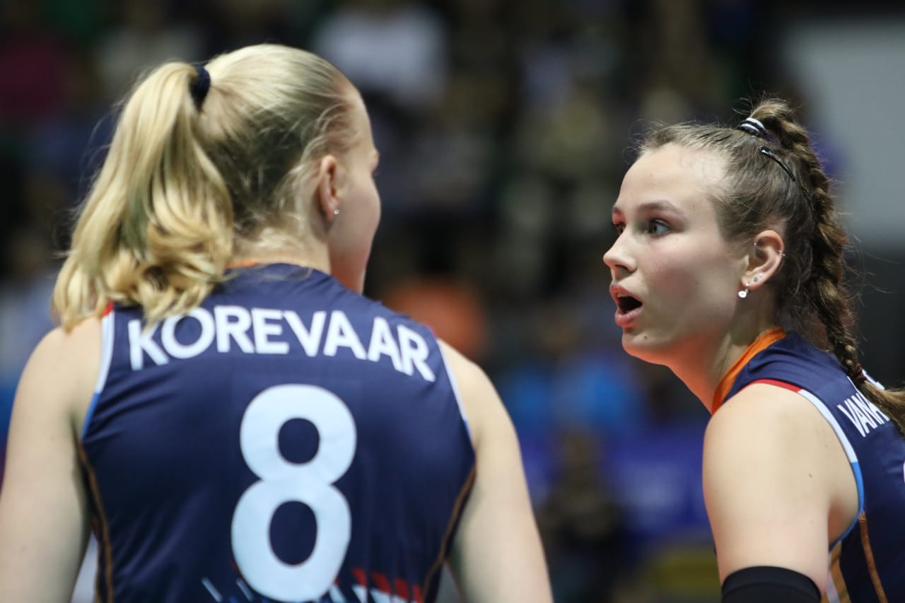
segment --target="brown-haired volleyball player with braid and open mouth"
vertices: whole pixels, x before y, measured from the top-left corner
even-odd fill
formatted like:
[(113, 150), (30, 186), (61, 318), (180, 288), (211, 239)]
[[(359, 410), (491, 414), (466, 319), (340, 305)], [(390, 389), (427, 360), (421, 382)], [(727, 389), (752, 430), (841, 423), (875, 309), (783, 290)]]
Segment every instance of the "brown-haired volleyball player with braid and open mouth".
[(712, 417), (704, 495), (725, 603), (905, 601), (905, 393), (862, 370), (846, 238), (783, 101), (653, 130), (613, 208), (624, 349)]

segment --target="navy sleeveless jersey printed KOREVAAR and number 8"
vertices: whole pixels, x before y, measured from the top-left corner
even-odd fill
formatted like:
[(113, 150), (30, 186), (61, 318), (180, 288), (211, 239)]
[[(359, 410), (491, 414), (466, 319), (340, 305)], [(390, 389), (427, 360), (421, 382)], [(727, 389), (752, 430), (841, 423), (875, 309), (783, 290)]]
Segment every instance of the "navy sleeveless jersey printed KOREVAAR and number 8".
[(81, 437), (100, 601), (433, 601), (475, 458), (430, 330), (325, 273), (103, 320)]

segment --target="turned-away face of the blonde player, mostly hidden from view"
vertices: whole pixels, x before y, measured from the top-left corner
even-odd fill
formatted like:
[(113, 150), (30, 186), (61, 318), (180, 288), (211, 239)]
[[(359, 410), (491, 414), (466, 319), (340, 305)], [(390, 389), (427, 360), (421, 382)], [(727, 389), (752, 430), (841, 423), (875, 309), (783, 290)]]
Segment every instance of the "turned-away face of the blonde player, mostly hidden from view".
[(374, 182), (379, 154), (367, 110), (357, 92), (353, 107), (357, 139), (342, 158), (341, 205), (329, 233), (329, 255), (330, 272), (349, 289), (361, 292), (380, 222), (380, 195)]

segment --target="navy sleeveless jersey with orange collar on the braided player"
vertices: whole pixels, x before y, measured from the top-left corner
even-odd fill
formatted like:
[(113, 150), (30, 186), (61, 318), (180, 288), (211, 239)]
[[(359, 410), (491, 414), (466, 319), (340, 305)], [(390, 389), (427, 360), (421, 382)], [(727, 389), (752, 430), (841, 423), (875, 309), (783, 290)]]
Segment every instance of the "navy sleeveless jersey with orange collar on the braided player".
[(758, 353), (729, 397), (754, 382), (801, 394), (833, 426), (858, 485), (858, 516), (830, 549), (824, 601), (905, 601), (905, 439), (838, 360), (789, 334)]

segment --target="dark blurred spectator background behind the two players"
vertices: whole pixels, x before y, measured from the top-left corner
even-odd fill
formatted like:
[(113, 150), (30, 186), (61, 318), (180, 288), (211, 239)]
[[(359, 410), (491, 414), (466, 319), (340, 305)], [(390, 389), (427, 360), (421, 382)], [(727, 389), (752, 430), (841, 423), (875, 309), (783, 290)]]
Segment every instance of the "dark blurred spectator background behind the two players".
[[(653, 120), (738, 120), (764, 92), (799, 104), (856, 246), (863, 364), (900, 385), (900, 7), (0, 0), (0, 455), (15, 383), (52, 328), (53, 276), (111, 103), (167, 59), (288, 43), (336, 63), (366, 99), (384, 204), (367, 294), (430, 324), (499, 388), (557, 603), (717, 601), (707, 414), (620, 347), (601, 262), (610, 207)], [(89, 553), (77, 601), (91, 599), (90, 567)]]

